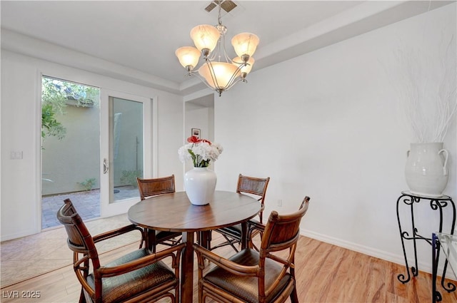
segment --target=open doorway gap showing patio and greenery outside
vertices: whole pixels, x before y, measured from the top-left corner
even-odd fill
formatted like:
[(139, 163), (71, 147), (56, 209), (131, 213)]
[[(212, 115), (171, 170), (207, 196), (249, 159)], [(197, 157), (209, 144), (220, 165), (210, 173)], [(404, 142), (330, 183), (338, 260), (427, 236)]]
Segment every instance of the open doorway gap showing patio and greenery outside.
[(41, 228), (59, 225), (70, 198), (83, 220), (100, 217), (100, 89), (41, 78)]

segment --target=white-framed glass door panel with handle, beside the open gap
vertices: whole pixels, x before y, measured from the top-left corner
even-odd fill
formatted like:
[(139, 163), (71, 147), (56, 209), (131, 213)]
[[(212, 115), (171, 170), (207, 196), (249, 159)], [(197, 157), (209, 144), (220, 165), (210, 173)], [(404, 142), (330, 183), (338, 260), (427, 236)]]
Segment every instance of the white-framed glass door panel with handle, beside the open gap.
[(101, 215), (139, 201), (136, 178), (151, 175), (151, 99), (101, 90)]

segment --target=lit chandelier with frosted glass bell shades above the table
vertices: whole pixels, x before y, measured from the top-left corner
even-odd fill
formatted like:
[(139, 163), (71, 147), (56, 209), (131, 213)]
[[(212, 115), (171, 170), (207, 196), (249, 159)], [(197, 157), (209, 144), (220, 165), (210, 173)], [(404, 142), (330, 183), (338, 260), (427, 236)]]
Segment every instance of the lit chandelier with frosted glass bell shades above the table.
[[(191, 30), (191, 38), (196, 47), (183, 46), (176, 50), (179, 63), (186, 68), (186, 76), (197, 76), (209, 88), (217, 91), (219, 96), (239, 81), (247, 82), (246, 76), (254, 63), (253, 53), (259, 42), (258, 36), (241, 33), (233, 36), (231, 44), (235, 49), (236, 58), (227, 56), (225, 47), (226, 26), (221, 21), (221, 3), (216, 26), (201, 24)], [(200, 56), (204, 63), (196, 69)], [(195, 71), (196, 69), (196, 71)]]

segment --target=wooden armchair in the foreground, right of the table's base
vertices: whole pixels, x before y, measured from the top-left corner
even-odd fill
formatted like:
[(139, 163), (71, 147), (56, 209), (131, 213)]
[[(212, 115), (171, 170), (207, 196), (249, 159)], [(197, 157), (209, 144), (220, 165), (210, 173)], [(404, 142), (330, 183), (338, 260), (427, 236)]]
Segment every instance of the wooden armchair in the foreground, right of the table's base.
[(246, 248), (227, 259), (194, 244), (199, 262), (199, 303), (207, 297), (238, 303), (286, 302), (290, 297), (292, 303), (298, 303), (295, 251), (301, 218), (307, 211), (308, 201), (303, 200), (298, 212), (279, 215), (273, 210), (266, 225), (253, 223), (251, 229), (263, 234), (259, 252)]

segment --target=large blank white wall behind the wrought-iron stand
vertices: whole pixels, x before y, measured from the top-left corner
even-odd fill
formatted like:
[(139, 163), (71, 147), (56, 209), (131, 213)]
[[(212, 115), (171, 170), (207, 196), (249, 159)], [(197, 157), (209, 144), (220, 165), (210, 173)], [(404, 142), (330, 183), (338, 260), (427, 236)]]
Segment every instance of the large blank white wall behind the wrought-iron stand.
[[(393, 87), (395, 53), (409, 46), (428, 53), (451, 35), (454, 61), (446, 64), (456, 68), (454, 3), (251, 73), (248, 84), (214, 101), (215, 140), (224, 147), (217, 188), (234, 190), (238, 173), (269, 176), (266, 214), (292, 212), (309, 195), (303, 235), (404, 264), (396, 200), (408, 190), (413, 137)], [(457, 202), (456, 120), (444, 145), (445, 194)], [(418, 228), (431, 237), (438, 214), (423, 206)], [(418, 250), (419, 269), (431, 270), (431, 246), (422, 241)]]

